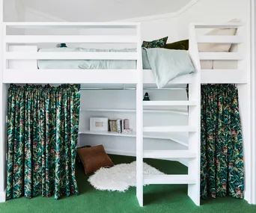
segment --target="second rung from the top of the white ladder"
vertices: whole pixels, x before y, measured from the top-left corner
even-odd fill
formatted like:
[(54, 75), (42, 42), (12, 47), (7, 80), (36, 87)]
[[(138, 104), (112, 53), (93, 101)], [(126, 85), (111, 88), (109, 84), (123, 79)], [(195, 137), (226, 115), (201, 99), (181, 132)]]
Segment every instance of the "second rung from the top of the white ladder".
[(197, 132), (193, 126), (145, 126), (144, 132)]

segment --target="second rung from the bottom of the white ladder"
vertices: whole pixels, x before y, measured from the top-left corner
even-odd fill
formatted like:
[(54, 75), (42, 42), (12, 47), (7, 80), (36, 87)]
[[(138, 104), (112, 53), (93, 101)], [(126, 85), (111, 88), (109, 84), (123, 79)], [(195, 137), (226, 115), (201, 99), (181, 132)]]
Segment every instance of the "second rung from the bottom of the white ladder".
[(196, 158), (189, 150), (144, 150), (144, 158)]

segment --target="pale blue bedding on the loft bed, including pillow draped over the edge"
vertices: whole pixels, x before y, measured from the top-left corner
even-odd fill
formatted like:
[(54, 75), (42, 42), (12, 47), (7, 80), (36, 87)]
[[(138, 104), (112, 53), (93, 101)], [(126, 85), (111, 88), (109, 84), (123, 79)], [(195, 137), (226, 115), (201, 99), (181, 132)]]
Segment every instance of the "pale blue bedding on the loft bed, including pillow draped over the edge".
[[(40, 49), (39, 52), (135, 52), (136, 49), (82, 49), (82, 48), (55, 48)], [(131, 60), (40, 60), (37, 61), (38, 68), (42, 70), (135, 70), (136, 62)], [(195, 71), (189, 54), (185, 50), (142, 48), (142, 64), (144, 70), (153, 70), (156, 77), (156, 85), (164, 87), (168, 81)]]

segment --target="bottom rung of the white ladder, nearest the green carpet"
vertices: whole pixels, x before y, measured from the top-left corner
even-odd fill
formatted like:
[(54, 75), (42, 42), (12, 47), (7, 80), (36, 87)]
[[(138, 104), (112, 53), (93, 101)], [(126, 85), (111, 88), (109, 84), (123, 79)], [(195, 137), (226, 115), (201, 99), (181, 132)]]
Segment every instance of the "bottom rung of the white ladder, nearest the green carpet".
[(144, 175), (144, 184), (196, 184), (189, 175)]

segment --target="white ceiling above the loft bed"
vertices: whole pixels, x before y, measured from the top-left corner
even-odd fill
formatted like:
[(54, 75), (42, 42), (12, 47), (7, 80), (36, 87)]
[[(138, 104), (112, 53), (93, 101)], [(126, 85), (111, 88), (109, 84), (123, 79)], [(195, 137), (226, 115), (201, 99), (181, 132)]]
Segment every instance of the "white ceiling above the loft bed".
[(106, 22), (174, 13), (191, 0), (22, 0), (25, 6), (70, 22)]

